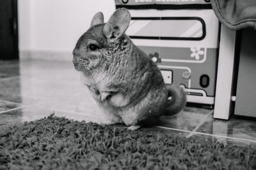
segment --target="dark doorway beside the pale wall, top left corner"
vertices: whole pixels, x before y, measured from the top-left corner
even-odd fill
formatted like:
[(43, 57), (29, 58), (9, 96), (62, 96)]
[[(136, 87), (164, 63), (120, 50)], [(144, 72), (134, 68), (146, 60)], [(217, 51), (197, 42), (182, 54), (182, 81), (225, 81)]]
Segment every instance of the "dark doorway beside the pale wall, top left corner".
[(0, 0), (0, 60), (19, 59), (17, 0)]

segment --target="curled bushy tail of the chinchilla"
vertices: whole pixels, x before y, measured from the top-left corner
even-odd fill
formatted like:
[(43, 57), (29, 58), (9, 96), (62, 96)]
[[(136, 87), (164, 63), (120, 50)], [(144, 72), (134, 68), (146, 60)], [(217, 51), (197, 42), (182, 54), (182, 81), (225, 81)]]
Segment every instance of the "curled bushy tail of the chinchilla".
[(186, 105), (186, 92), (183, 87), (175, 85), (167, 86), (168, 89), (168, 102), (164, 115), (170, 116), (179, 113)]

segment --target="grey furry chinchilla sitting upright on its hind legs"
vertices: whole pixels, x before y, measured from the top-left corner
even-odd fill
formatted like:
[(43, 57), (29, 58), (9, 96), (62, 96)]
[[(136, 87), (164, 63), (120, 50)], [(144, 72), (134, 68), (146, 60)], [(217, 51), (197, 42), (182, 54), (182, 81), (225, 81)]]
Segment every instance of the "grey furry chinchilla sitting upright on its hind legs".
[[(73, 63), (109, 124), (136, 130), (153, 125), (162, 115), (179, 113), (186, 104), (182, 88), (166, 87), (157, 65), (124, 32), (131, 15), (118, 9), (104, 24), (101, 12), (77, 41)], [(172, 99), (170, 99), (172, 98)]]

